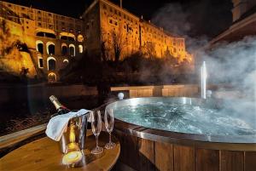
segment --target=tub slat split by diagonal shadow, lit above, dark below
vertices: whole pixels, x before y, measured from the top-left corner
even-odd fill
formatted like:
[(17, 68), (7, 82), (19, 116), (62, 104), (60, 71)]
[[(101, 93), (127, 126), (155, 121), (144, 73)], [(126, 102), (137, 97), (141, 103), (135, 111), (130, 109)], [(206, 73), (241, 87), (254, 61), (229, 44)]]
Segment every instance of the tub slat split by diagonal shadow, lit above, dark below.
[(154, 171), (154, 141), (138, 138), (139, 170)]

